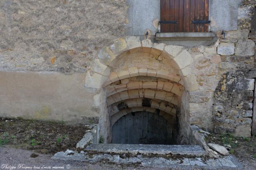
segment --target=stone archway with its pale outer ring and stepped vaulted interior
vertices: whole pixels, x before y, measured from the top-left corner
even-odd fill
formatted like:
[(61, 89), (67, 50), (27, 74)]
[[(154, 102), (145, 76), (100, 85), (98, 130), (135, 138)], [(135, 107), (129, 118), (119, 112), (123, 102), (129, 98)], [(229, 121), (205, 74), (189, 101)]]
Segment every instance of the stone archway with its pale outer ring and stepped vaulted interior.
[(139, 37), (121, 38), (101, 49), (87, 72), (86, 88), (98, 93), (93, 107), (100, 115), (100, 133), (106, 141), (111, 141), (108, 137), (113, 116), (118, 119), (115, 114), (124, 111), (116, 109), (119, 102), (132, 106), (126, 109), (143, 109), (142, 100), (148, 99), (151, 108), (168, 114), (179, 110), (172, 117), (180, 115), (180, 129), (188, 130), (190, 104), (186, 93), (198, 90), (196, 76), (189, 67), (193, 62), (181, 46), (140, 41)]

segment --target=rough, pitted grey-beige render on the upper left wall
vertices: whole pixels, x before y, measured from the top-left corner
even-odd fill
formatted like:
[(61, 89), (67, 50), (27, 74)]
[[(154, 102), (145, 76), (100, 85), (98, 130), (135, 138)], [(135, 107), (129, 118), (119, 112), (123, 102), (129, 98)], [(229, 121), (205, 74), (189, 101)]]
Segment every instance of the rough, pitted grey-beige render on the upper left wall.
[(84, 72), (124, 36), (125, 0), (1, 0), (0, 70)]

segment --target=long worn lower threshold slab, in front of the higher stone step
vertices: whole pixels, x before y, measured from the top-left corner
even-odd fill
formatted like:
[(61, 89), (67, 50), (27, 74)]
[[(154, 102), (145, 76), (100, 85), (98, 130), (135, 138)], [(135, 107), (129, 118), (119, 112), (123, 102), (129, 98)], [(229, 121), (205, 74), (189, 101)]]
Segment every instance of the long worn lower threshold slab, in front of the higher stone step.
[[(219, 158), (198, 157), (185, 158), (186, 156), (178, 156), (178, 158), (170, 158), (166, 156), (149, 156), (137, 154), (130, 156), (129, 154), (107, 154), (107, 153), (87, 153), (84, 151), (77, 152), (66, 150), (66, 152), (57, 152), (52, 156), (52, 159), (59, 160), (76, 160), (82, 162), (107, 162), (111, 164), (134, 164), (139, 167), (148, 167), (149, 169), (167, 168), (167, 169), (243, 169), (242, 164), (235, 156), (220, 156)], [(137, 168), (136, 168), (137, 169)]]

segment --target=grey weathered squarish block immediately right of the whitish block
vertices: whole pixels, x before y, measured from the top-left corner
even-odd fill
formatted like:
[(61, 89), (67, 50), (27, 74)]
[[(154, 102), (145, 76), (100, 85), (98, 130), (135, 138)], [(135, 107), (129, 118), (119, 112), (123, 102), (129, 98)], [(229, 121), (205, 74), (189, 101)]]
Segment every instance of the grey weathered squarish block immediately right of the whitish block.
[(248, 40), (238, 40), (236, 43), (236, 49), (235, 49), (235, 55), (240, 56), (253, 56), (254, 55), (254, 41), (248, 39)]

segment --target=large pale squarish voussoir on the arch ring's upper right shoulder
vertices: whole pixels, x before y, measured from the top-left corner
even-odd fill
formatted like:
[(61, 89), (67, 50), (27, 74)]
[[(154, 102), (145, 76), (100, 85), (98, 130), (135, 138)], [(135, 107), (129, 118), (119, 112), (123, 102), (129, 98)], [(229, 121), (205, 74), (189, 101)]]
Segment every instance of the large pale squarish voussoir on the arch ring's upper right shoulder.
[(185, 68), (189, 64), (193, 63), (193, 58), (191, 57), (188, 51), (183, 50), (177, 57), (174, 58), (174, 61), (178, 64), (179, 68)]

